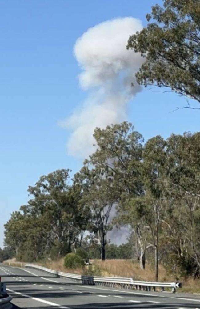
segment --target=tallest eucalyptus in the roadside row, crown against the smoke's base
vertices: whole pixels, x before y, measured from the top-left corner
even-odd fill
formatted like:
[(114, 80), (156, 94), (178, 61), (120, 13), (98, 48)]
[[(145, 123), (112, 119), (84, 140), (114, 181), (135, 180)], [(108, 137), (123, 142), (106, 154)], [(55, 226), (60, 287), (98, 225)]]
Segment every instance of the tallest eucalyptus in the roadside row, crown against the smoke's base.
[[(122, 199), (143, 195), (142, 135), (134, 130), (131, 123), (123, 122), (107, 126), (106, 129), (96, 128), (94, 138), (97, 150), (90, 155), (90, 159), (86, 163), (98, 168), (103, 174), (106, 174), (107, 179), (112, 180), (116, 208)], [(114, 220), (114, 223), (123, 225), (130, 222), (120, 215), (118, 219)], [(135, 229), (135, 226), (133, 228)], [(145, 244), (138, 233), (136, 233), (136, 237), (142, 256), (142, 247)]]

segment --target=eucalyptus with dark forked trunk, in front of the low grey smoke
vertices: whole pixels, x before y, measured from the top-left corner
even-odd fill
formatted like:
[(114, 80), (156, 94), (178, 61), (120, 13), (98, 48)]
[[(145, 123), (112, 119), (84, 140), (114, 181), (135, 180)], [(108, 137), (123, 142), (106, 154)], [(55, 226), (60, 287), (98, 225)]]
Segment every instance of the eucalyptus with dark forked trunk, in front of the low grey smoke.
[(82, 207), (89, 214), (87, 229), (93, 232), (101, 248), (101, 259), (106, 259), (107, 232), (112, 229), (111, 210), (116, 202), (113, 179), (98, 167), (84, 167), (74, 176), (82, 186)]

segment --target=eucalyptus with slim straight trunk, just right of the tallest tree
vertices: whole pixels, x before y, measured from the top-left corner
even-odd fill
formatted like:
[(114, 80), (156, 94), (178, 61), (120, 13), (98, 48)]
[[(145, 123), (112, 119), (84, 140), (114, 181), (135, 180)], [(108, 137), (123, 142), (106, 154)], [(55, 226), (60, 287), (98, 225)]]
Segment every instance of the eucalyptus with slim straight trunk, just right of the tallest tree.
[(155, 280), (158, 280), (159, 235), (166, 213), (166, 142), (160, 136), (147, 141), (142, 152), (140, 174), (144, 193), (125, 196), (119, 205), (119, 219), (128, 222), (137, 235), (140, 267), (145, 268), (146, 251), (155, 251)]

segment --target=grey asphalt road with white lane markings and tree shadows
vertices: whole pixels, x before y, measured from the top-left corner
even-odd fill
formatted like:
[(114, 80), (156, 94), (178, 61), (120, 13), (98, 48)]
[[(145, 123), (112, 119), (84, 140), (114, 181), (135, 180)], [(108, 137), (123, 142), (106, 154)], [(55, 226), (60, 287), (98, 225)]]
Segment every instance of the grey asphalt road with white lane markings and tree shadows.
[(200, 297), (183, 293), (130, 291), (83, 286), (35, 270), (0, 265), (0, 276), (15, 308), (26, 309), (189, 309)]

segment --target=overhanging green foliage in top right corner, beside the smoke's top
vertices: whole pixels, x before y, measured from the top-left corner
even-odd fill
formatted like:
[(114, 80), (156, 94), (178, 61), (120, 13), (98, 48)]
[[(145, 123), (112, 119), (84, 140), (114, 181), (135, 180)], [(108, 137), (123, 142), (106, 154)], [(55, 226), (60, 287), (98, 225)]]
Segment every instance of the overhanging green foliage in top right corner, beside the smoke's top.
[(147, 27), (128, 40), (127, 48), (145, 59), (136, 78), (145, 87), (169, 87), (200, 102), (200, 2), (163, 2), (152, 6)]

